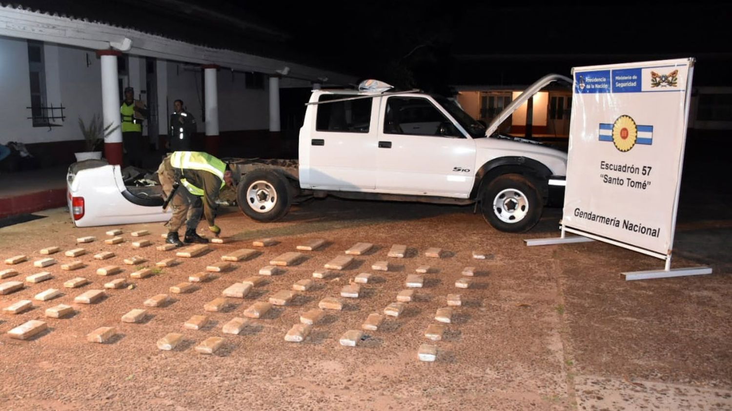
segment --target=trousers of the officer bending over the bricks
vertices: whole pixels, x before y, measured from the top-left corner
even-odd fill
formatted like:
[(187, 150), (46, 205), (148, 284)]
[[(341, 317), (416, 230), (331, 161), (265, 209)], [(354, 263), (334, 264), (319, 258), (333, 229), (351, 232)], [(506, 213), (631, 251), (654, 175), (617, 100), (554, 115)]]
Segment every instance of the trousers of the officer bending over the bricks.
[[(171, 167), (170, 157), (166, 157), (160, 167), (157, 169), (157, 176), (160, 178), (160, 184), (163, 186), (165, 198), (168, 198), (173, 191), (173, 183), (175, 182), (175, 173)], [(201, 197), (190, 194), (188, 190), (181, 184), (176, 190), (176, 195), (168, 204), (173, 208), (173, 216), (165, 223), (168, 231), (176, 233), (185, 222), (187, 230), (195, 231), (198, 222), (201, 221), (203, 214), (203, 201)]]

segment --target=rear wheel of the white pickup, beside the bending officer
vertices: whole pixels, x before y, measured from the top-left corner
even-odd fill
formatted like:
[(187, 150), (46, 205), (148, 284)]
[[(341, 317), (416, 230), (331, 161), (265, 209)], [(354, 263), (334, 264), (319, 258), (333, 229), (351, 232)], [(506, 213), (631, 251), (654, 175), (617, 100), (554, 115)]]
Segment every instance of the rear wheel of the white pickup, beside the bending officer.
[(259, 222), (274, 222), (290, 211), (291, 198), (287, 181), (271, 170), (254, 170), (244, 174), (236, 190), (239, 209)]

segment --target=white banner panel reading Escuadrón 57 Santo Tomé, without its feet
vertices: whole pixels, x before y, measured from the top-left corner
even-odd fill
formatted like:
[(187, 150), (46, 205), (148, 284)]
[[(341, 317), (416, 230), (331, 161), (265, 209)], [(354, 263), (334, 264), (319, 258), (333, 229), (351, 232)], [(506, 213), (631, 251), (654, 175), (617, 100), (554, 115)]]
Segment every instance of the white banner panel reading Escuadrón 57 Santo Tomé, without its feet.
[(693, 62), (575, 67), (564, 227), (671, 254)]

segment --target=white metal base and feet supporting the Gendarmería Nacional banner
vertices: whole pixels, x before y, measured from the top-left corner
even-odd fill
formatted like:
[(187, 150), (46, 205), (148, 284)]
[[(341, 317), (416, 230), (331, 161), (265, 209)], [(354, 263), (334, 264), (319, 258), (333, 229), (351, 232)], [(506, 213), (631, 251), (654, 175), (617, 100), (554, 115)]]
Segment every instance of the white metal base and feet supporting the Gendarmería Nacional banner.
[[(578, 235), (572, 235), (571, 237), (567, 237), (565, 235), (567, 232), (574, 233)], [(594, 238), (593, 238), (594, 237)], [(614, 244), (618, 243), (618, 241), (610, 240), (609, 238), (598, 238), (596, 235), (592, 235), (590, 233), (584, 233), (580, 230), (574, 230), (569, 227), (564, 227), (564, 225), (561, 226), (561, 236), (560, 237), (554, 237), (554, 238), (531, 238), (528, 240), (524, 240), (526, 243), (526, 246), (549, 246), (554, 244), (572, 244), (572, 243), (589, 243), (591, 241), (602, 241), (608, 244), (613, 244), (620, 246), (621, 244)], [(712, 274), (712, 268), (711, 267), (691, 267), (691, 268), (671, 268), (671, 254), (663, 255), (663, 254), (657, 254), (655, 252), (649, 252), (648, 250), (643, 249), (637, 249), (637, 247), (628, 246), (627, 244), (622, 244), (623, 248), (632, 249), (633, 251), (642, 252), (643, 254), (649, 255), (651, 257), (656, 257), (660, 260), (665, 260), (665, 267), (662, 270), (649, 270), (649, 271), (627, 271), (624, 273), (620, 273), (621, 276), (625, 278), (625, 281), (633, 281), (638, 279), (662, 279), (662, 278), (671, 278), (671, 277), (681, 277), (681, 276), (701, 276), (706, 274)]]

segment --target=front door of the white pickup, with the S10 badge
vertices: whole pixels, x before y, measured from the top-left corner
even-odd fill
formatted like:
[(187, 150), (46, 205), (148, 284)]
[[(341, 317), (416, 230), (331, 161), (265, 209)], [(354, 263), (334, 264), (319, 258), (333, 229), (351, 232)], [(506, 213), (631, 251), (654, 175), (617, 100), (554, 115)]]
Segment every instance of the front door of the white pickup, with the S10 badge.
[(467, 198), (475, 143), (426, 97), (381, 97), (376, 191)]

